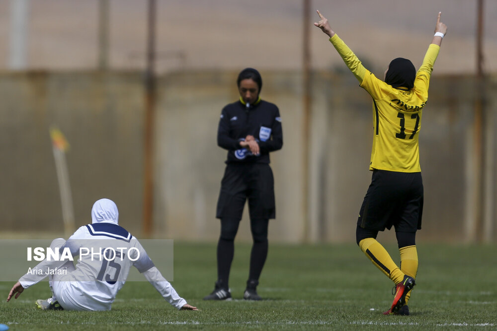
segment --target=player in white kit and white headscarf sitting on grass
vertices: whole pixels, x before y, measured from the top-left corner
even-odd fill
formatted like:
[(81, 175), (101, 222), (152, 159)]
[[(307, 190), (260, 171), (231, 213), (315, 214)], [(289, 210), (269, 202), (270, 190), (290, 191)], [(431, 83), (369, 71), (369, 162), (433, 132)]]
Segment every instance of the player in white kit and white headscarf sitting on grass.
[[(118, 216), (117, 206), (112, 200), (97, 200), (91, 208), (91, 224), (80, 227), (67, 241), (59, 238), (52, 241), (50, 245), (52, 250), (59, 248), (59, 252), (64, 252), (69, 248), (73, 257), (80, 255), (76, 267), (69, 259), (68, 261), (45, 259), (15, 283), (8, 294), (7, 301), (14, 294), (14, 298), (17, 299), (25, 288), (43, 280), (48, 274), (53, 296), (48, 300), (37, 300), (38, 308), (43, 310), (110, 310), (117, 292), (123, 287), (131, 265), (133, 265), (172, 306), (181, 310), (198, 310), (187, 304), (186, 300), (176, 293), (138, 240), (118, 225)], [(117, 253), (107, 255), (107, 259), (99, 259), (98, 256), (91, 254), (80, 254), (86, 253), (89, 247), (102, 247), (102, 244), (106, 254)], [(81, 252), (80, 249), (82, 249)], [(33, 272), (33, 270), (38, 272)], [(49, 270), (62, 270), (62, 272), (50, 274)]]

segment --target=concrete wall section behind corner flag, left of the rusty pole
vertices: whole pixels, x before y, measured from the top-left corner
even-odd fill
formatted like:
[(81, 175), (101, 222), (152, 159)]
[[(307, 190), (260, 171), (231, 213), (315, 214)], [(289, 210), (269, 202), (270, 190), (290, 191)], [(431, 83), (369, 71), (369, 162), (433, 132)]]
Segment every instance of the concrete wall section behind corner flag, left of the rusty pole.
[(137, 74), (29, 72), (0, 75), (0, 227), (57, 231), (61, 200), (49, 128), (66, 135), (76, 223), (96, 199), (119, 206), (140, 229), (143, 93)]

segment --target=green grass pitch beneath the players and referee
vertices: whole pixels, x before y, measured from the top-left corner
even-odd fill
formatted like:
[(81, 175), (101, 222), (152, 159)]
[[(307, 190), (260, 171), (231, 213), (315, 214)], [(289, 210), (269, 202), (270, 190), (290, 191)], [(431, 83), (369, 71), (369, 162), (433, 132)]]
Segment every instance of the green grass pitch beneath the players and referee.
[[(396, 246), (387, 246), (398, 260)], [(111, 311), (40, 311), (48, 283), (0, 304), (10, 330), (497, 330), (495, 246), (419, 245), (411, 316), (384, 316), (393, 283), (356, 245), (271, 245), (259, 302), (242, 299), (250, 246), (235, 246), (231, 302), (203, 301), (216, 279), (214, 244), (174, 244), (172, 285), (200, 311), (177, 311), (146, 281), (127, 282)], [(6, 266), (2, 266), (6, 267)], [(6, 298), (13, 283), (1, 282)]]

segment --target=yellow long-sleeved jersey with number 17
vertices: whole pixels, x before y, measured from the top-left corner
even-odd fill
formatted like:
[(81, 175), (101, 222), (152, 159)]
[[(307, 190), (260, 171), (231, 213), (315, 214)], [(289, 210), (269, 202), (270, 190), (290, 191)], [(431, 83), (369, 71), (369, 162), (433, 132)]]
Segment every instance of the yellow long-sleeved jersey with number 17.
[(362, 66), (359, 59), (338, 37), (331, 43), (341, 58), (373, 98), (373, 148), (369, 170), (420, 172), (418, 132), (421, 114), (428, 100), (433, 64), (440, 46), (430, 44), (414, 79), (414, 87), (393, 88)]

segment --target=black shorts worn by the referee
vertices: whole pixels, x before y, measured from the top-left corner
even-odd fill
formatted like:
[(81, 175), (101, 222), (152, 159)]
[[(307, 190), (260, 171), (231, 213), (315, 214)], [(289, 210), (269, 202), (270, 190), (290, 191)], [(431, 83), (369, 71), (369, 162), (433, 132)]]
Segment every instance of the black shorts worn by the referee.
[(248, 199), (250, 218), (274, 218), (274, 178), (269, 164), (228, 164), (221, 181), (217, 218), (242, 219)]

